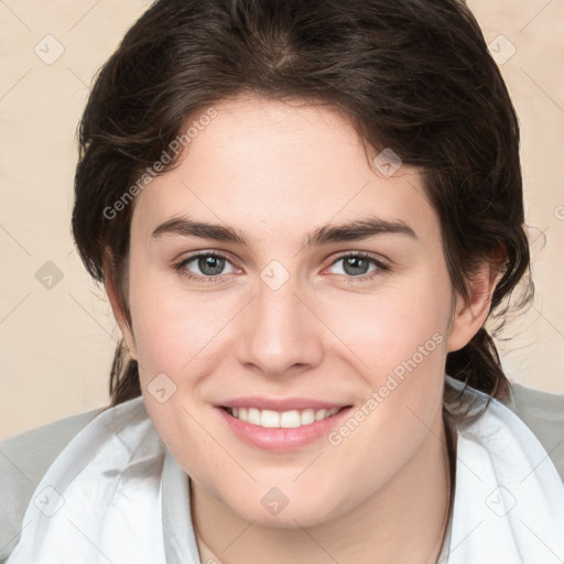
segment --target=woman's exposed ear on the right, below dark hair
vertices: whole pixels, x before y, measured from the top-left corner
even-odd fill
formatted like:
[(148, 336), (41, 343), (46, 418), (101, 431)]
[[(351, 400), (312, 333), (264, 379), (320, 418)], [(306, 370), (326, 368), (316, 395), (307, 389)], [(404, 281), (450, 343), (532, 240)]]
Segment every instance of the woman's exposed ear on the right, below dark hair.
[(486, 260), (468, 281), (468, 299), (456, 294), (447, 351), (464, 348), (486, 322), (502, 264), (501, 258)]

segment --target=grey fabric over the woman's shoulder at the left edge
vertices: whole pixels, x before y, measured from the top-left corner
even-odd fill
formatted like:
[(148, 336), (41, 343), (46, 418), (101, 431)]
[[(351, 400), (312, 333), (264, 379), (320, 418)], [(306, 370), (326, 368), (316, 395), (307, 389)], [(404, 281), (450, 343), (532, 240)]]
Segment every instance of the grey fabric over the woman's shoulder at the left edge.
[(0, 442), (0, 561), (18, 543), (23, 514), (47, 468), (104, 410), (72, 415)]

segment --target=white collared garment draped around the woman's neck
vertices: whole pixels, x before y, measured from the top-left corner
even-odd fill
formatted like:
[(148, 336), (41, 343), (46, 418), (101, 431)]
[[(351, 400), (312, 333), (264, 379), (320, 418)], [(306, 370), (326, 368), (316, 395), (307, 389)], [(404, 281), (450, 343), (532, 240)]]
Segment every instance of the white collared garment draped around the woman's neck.
[[(189, 516), (188, 477), (135, 398), (99, 413), (56, 457), (6, 562), (203, 564)], [(437, 562), (564, 562), (564, 485), (535, 435), (496, 400), (457, 427), (455, 499)]]

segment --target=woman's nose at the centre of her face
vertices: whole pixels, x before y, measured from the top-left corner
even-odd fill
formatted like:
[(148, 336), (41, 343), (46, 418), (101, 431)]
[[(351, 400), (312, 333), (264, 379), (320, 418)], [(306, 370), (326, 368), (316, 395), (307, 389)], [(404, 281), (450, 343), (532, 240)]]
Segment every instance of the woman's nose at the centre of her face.
[(259, 282), (236, 345), (247, 369), (268, 377), (296, 376), (321, 362), (323, 323), (297, 292), (292, 276), (275, 290)]

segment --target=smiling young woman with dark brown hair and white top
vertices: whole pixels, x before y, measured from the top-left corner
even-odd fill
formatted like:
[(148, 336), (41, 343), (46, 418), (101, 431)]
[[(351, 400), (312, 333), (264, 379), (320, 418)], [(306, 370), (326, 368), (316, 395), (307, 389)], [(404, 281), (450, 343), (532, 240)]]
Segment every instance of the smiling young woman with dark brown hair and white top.
[(528, 397), (535, 436), (485, 328), (529, 249), (464, 3), (160, 0), (80, 149), (123, 344), (111, 406), (4, 445), (63, 436), (19, 465), (7, 562), (564, 561), (564, 400)]

